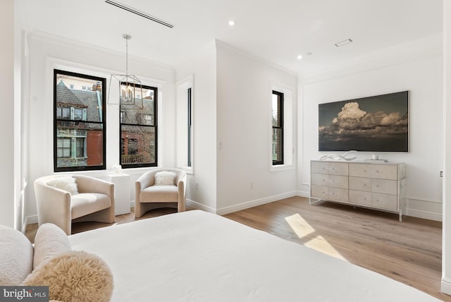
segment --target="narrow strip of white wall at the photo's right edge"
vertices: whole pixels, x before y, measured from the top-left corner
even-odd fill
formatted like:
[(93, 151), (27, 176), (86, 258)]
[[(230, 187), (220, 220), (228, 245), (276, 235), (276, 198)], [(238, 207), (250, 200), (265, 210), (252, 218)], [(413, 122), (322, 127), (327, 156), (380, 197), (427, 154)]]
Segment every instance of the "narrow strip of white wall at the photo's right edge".
[[(443, 242), (441, 290), (451, 294), (451, 3), (443, 1)], [(448, 176), (450, 175), (450, 176)]]

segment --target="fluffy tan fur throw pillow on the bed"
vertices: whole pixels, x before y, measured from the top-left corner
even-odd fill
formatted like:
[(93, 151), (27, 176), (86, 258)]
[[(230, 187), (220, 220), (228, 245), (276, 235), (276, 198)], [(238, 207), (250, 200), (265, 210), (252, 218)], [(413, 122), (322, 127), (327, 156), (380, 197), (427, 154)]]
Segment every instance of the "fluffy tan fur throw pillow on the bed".
[(42, 262), (23, 285), (49, 286), (50, 300), (108, 302), (113, 274), (99, 256), (76, 250)]

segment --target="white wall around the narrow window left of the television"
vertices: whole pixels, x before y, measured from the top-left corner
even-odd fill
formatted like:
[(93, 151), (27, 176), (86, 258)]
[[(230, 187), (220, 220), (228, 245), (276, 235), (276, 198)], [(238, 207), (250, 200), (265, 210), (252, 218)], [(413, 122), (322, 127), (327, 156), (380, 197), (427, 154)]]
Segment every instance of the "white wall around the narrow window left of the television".
[[(295, 160), (271, 171), (271, 86), (291, 87), (296, 96), (296, 75), (222, 42), (216, 42), (216, 56), (216, 211), (226, 214), (295, 195)], [(294, 113), (295, 107), (284, 112)]]

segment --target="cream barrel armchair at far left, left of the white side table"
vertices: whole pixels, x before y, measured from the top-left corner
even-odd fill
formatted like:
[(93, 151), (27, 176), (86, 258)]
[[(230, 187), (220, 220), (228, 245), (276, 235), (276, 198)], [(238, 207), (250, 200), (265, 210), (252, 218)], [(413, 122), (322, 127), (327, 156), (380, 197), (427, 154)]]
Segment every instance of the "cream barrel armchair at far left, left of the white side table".
[(44, 176), (35, 181), (37, 221), (56, 224), (70, 235), (72, 222), (114, 222), (114, 184), (82, 175), (75, 179), (78, 193), (50, 186), (62, 176)]

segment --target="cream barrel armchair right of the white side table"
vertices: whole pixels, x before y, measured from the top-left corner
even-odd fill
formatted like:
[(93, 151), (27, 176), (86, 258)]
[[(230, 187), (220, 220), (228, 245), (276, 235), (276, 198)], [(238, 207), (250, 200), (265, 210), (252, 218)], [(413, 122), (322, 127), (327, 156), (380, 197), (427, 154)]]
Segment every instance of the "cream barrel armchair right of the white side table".
[[(176, 174), (173, 186), (155, 185), (155, 174), (172, 171)], [(135, 217), (158, 207), (175, 207), (185, 211), (186, 172), (180, 169), (156, 169), (142, 174), (135, 182)]]

